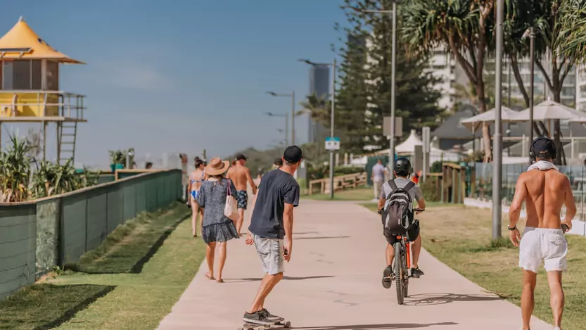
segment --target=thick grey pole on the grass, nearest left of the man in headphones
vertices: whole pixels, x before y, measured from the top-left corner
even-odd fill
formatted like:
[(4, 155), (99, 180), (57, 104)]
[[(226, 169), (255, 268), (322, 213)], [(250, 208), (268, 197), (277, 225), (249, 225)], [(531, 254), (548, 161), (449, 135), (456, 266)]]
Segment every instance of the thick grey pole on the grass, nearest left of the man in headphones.
[(492, 152), (492, 239), (501, 237), (501, 182), (502, 182), (502, 22), (504, 0), (497, 0), (497, 67), (495, 79), (495, 136)]

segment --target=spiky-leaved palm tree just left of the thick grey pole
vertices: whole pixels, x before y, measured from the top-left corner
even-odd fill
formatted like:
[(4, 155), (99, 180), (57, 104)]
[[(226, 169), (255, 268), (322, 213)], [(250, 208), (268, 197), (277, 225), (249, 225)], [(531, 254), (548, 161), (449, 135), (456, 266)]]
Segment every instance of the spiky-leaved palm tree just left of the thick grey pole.
[[(438, 46), (453, 54), (476, 90), (478, 110), (487, 109), (485, 57), (492, 44), (494, 1), (407, 0), (402, 8), (402, 36), (412, 51), (432, 53)], [(484, 159), (490, 160), (490, 132), (483, 125)]]

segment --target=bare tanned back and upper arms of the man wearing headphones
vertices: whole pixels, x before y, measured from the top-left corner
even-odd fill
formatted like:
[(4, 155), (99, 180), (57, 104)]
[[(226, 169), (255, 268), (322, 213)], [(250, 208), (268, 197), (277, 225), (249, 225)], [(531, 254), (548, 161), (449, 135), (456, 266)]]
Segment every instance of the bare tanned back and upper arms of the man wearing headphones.
[(529, 170), (522, 173), (515, 192), (511, 208), (516, 210), (517, 205), (525, 202), (527, 227), (559, 229), (563, 205), (566, 204), (566, 208), (570, 209), (573, 205), (575, 210), (570, 181), (556, 170)]

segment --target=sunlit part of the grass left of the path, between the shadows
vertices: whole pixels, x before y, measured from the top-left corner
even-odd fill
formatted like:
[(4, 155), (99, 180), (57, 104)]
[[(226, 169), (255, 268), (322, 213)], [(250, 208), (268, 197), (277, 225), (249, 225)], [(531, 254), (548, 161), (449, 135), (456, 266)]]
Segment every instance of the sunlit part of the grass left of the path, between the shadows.
[[(179, 218), (189, 212), (181, 203), (172, 211)], [(182, 221), (139, 274), (70, 273), (51, 279), (49, 282), (56, 285), (115, 286), (57, 329), (156, 329), (193, 279), (204, 256), (205, 244), (191, 236), (191, 222)]]

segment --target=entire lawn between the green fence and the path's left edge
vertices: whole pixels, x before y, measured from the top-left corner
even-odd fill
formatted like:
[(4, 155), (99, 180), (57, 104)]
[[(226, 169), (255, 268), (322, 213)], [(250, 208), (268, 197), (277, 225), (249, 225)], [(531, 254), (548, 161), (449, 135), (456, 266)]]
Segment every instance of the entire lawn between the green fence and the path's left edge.
[[(128, 222), (80, 260), (80, 269), (100, 274), (68, 270), (18, 291), (0, 303), (0, 329), (155, 329), (205, 257), (203, 241), (191, 237), (191, 222), (179, 221), (189, 212), (174, 203)], [(147, 257), (141, 272), (132, 273)]]

